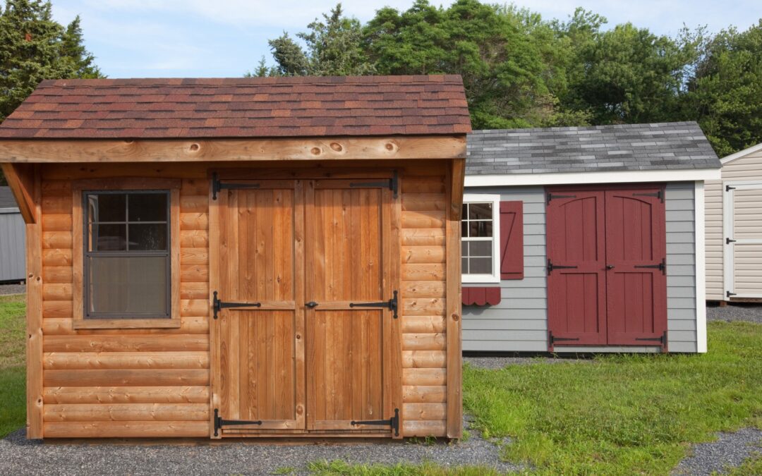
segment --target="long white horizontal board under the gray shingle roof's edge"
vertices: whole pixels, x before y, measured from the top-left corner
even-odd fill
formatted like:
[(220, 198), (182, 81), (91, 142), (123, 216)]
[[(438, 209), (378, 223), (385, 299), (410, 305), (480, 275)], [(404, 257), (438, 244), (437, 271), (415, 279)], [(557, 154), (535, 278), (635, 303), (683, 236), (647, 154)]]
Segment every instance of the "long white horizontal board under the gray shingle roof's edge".
[(666, 171), (603, 171), (558, 174), (466, 174), (466, 187), (500, 187), (562, 184), (626, 184), (629, 182), (685, 182), (721, 180), (719, 168)]

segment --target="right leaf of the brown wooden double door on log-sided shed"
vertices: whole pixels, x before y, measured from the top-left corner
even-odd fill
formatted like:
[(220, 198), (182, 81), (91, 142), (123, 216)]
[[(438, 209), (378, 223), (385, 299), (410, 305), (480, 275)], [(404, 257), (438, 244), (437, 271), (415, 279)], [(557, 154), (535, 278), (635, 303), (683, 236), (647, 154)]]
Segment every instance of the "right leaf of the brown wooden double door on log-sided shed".
[(391, 192), (377, 180), (306, 183), (307, 425), (312, 430), (392, 432), (380, 421), (357, 423), (395, 416), (385, 389), (394, 372), (387, 365), (393, 312), (376, 306), (388, 303), (395, 291), (390, 212)]

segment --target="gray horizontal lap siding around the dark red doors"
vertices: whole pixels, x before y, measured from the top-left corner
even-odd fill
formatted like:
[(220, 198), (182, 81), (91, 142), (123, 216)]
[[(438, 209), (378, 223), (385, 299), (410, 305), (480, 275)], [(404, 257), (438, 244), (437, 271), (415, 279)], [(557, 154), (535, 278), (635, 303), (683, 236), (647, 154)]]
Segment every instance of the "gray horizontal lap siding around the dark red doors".
[[(693, 182), (667, 184), (667, 308), (671, 352), (696, 352), (696, 276)], [(523, 202), (524, 279), (502, 280), (501, 302), (463, 306), (463, 350), (545, 352), (548, 311), (544, 187), (479, 187), (466, 193), (499, 193)], [(464, 286), (479, 286), (467, 283)], [(655, 347), (565, 348), (569, 352), (651, 352)], [(558, 348), (557, 350), (560, 350)]]

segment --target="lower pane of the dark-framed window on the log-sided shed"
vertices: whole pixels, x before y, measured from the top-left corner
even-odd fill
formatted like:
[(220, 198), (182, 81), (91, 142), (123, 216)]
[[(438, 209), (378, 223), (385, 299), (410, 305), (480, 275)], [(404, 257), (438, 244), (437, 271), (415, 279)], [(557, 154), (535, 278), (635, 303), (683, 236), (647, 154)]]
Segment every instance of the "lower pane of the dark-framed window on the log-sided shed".
[(167, 257), (89, 257), (88, 314), (167, 317), (167, 260)]

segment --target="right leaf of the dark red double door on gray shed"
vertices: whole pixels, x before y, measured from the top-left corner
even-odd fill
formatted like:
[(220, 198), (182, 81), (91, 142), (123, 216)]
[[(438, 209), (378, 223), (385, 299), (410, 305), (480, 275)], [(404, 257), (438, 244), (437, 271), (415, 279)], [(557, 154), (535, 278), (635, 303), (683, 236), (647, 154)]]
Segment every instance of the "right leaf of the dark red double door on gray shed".
[(606, 192), (609, 345), (658, 345), (667, 331), (664, 190)]

